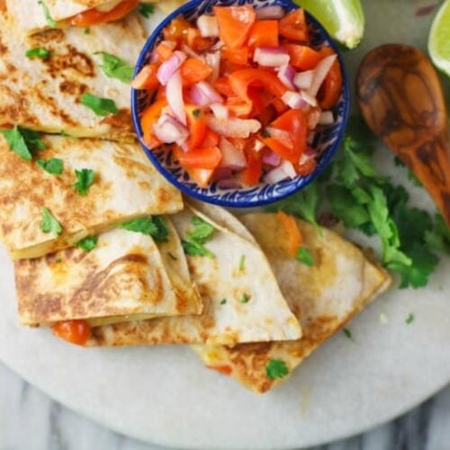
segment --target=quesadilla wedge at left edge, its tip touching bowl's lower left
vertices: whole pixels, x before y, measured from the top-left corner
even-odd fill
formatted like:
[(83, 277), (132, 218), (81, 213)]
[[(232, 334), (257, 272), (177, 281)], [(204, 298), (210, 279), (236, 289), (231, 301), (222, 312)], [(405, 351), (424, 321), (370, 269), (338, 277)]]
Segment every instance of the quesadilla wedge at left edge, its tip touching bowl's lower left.
[[(138, 144), (58, 136), (42, 143), (34, 160), (25, 160), (0, 135), (0, 238), (13, 259), (41, 257), (122, 222), (183, 209), (181, 194)], [(55, 161), (60, 175), (45, 170)]]

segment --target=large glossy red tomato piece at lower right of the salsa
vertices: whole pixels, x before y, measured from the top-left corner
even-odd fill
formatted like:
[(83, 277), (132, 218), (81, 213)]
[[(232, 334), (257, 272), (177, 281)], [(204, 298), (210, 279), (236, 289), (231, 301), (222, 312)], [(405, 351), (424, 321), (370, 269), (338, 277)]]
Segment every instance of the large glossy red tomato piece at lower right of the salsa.
[(272, 136), (261, 135), (260, 139), (262, 142), (280, 157), (297, 164), (303, 151), (306, 149), (308, 135), (308, 123), (304, 112), (301, 109), (284, 112), (282, 116), (270, 124), (270, 127), (288, 131), (293, 141), (293, 146), (287, 147), (284, 142)]

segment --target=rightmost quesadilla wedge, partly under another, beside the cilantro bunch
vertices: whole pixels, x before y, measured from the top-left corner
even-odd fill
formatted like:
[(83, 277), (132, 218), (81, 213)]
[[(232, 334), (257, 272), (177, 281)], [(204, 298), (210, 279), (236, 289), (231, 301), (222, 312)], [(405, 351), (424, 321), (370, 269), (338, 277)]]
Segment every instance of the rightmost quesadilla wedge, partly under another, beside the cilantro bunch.
[(289, 374), (327, 338), (391, 284), (390, 276), (353, 244), (297, 220), (303, 244), (313, 258), (307, 266), (288, 255), (287, 239), (276, 214), (241, 217), (257, 238), (275, 272), (291, 310), (302, 326), (302, 338), (288, 342), (241, 344), (236, 347), (194, 346), (205, 365), (229, 374), (256, 392), (266, 392)]

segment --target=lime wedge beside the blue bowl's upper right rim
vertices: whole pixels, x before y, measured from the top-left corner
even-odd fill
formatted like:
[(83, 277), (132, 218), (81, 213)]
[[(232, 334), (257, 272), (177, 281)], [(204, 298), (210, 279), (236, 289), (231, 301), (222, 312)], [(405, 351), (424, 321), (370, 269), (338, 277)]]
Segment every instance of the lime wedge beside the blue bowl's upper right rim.
[(354, 49), (365, 31), (365, 14), (360, 0), (295, 0), (316, 17), (331, 36)]

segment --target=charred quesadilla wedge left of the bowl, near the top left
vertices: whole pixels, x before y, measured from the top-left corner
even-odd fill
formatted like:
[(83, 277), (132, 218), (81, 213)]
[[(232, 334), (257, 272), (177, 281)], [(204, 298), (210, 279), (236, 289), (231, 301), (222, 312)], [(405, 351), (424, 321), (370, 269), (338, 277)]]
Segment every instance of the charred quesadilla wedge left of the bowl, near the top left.
[(0, 123), (76, 137), (135, 139), (129, 81), (145, 34), (134, 14), (88, 33), (49, 30), (29, 40), (19, 27), (0, 14)]

